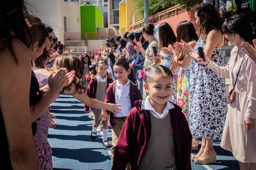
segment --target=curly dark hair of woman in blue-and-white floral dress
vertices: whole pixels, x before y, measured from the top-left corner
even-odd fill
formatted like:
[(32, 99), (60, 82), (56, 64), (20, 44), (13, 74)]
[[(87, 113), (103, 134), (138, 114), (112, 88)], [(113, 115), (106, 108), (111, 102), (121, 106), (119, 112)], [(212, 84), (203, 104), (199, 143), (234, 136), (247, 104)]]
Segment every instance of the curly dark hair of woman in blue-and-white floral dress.
[(200, 38), (206, 38), (212, 30), (221, 30), (222, 20), (217, 9), (210, 3), (201, 3), (195, 8), (199, 18)]

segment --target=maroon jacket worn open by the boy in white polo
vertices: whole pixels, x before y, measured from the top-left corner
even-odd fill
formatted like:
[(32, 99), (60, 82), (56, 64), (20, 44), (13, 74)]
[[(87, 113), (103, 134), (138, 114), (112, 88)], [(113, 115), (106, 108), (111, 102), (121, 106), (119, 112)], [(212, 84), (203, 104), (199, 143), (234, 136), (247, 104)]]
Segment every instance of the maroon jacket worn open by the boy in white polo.
[[(105, 96), (105, 103), (115, 103), (116, 81), (114, 81), (108, 87), (106, 96)], [(129, 81), (130, 81), (130, 100), (131, 100), (131, 106), (133, 108), (134, 102), (136, 102), (138, 100), (142, 100), (143, 98), (142, 98), (142, 95), (141, 95), (140, 90), (138, 89), (137, 85), (134, 84), (131, 80), (129, 80)], [(115, 104), (118, 104), (118, 103), (115, 103)], [(110, 126), (112, 126), (114, 114), (108, 110), (106, 110), (106, 112), (108, 113), (108, 115), (110, 114), (109, 123), (110, 123)]]

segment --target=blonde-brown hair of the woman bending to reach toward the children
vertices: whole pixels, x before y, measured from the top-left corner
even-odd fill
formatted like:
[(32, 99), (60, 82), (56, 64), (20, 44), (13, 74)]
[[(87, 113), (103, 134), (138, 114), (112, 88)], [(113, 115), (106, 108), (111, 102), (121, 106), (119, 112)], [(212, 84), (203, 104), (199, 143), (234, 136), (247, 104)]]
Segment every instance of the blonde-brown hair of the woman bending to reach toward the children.
[[(82, 62), (79, 58), (70, 55), (68, 53), (60, 54), (53, 64), (52, 69), (50, 69), (53, 73), (56, 73), (60, 68), (66, 68), (68, 72), (74, 70), (75, 77), (72, 83), (75, 84), (76, 91), (78, 93), (85, 92), (85, 87), (83, 83), (83, 77), (79, 74), (79, 69), (81, 68)], [(61, 93), (64, 93), (65, 90), (70, 91), (72, 83), (68, 86), (63, 87)]]

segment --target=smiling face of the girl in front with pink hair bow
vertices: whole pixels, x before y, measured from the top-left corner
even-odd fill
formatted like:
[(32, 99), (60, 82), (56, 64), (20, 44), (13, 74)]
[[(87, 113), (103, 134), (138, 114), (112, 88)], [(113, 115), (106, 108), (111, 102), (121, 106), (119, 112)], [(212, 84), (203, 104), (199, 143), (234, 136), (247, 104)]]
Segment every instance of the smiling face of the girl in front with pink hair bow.
[(172, 79), (167, 76), (155, 77), (153, 82), (144, 84), (144, 87), (149, 93), (152, 106), (165, 105), (172, 95)]

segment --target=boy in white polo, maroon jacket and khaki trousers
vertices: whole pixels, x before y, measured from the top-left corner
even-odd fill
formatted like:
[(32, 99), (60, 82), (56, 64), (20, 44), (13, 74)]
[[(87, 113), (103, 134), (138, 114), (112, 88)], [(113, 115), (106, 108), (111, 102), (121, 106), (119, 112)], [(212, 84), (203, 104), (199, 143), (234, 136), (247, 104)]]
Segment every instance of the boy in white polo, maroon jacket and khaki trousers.
[[(122, 105), (122, 111), (116, 110), (115, 114), (110, 113), (109, 111), (103, 112), (104, 118), (107, 117), (106, 113), (110, 114), (113, 145), (111, 148), (111, 164), (113, 164), (115, 146), (124, 126), (126, 117), (130, 110), (134, 107), (134, 102), (142, 100), (142, 95), (137, 85), (133, 84), (132, 81), (127, 79), (127, 76), (131, 73), (129, 62), (125, 58), (118, 58), (113, 64), (113, 69), (117, 80), (108, 87), (105, 103), (120, 104)], [(126, 164), (128, 162), (126, 162)]]

